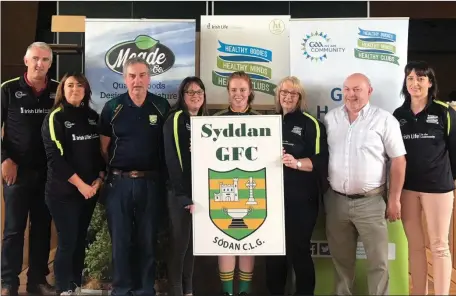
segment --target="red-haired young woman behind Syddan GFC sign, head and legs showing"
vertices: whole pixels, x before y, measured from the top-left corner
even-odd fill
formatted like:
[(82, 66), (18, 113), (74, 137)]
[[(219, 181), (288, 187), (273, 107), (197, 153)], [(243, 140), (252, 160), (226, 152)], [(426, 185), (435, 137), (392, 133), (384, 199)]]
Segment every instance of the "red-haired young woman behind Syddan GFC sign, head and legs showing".
[[(251, 108), (255, 93), (249, 75), (243, 71), (234, 72), (228, 78), (229, 107), (214, 114), (226, 115), (261, 115)], [(234, 269), (236, 256), (219, 256), (218, 260), (220, 280), (222, 281), (222, 295), (233, 295)], [(239, 296), (248, 296), (255, 267), (254, 256), (239, 256)]]

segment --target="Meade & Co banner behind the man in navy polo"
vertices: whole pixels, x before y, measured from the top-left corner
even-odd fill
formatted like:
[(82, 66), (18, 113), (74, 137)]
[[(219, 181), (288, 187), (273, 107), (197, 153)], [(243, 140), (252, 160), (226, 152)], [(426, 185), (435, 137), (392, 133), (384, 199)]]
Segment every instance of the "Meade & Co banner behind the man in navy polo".
[(127, 92), (123, 64), (142, 57), (150, 64), (149, 91), (177, 101), (181, 81), (195, 75), (195, 20), (86, 19), (85, 74), (93, 108)]

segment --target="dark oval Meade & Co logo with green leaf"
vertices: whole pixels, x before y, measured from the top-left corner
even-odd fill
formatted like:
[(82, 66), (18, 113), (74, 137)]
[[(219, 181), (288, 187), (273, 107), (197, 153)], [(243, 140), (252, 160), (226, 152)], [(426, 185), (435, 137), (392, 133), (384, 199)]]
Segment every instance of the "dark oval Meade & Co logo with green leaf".
[(126, 60), (133, 57), (145, 59), (151, 69), (151, 75), (162, 74), (174, 65), (174, 53), (160, 41), (147, 35), (139, 35), (135, 40), (130, 40), (114, 45), (108, 50), (105, 62), (109, 69), (122, 74)]

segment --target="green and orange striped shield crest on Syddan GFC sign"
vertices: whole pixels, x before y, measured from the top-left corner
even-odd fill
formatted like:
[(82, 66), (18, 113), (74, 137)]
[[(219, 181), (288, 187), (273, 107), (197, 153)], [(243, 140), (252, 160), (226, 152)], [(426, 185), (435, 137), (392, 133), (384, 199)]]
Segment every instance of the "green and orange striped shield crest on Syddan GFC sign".
[(212, 223), (237, 241), (254, 233), (267, 217), (266, 168), (209, 169), (209, 212)]

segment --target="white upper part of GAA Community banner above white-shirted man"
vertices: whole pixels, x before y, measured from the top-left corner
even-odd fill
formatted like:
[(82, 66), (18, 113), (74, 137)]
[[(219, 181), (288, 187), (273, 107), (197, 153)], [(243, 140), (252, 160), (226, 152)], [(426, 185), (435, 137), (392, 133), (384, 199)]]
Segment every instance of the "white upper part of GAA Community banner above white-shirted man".
[(291, 75), (306, 89), (309, 112), (321, 119), (343, 104), (345, 78), (370, 79), (371, 103), (393, 112), (407, 64), (408, 19), (324, 19), (290, 22)]

